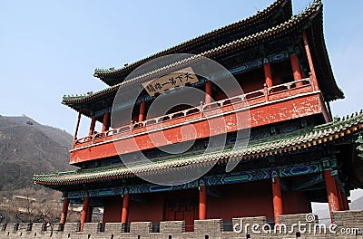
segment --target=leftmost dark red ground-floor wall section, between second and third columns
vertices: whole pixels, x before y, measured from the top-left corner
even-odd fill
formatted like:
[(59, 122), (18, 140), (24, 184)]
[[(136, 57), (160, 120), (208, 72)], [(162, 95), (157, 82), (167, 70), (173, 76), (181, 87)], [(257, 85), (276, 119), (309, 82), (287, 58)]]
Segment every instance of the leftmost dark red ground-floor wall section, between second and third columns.
[(110, 196), (107, 197), (103, 206), (103, 224), (104, 223), (120, 223), (123, 211), (123, 197)]

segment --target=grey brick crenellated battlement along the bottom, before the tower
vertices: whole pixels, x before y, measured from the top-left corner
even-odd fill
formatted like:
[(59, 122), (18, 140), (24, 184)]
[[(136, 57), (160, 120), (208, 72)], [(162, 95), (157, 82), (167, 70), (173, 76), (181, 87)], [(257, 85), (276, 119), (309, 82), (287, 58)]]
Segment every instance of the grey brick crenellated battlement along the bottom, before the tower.
[[(2, 224), (0, 239), (5, 238), (363, 238), (363, 210), (333, 213), (334, 226), (319, 225), (316, 215), (280, 215), (280, 226), (269, 225), (266, 217), (233, 218), (233, 230), (223, 230), (222, 219), (195, 220), (194, 232), (185, 232), (185, 222), (161, 222), (154, 232), (152, 222), (132, 222), (128, 233), (122, 223), (79, 223), (46, 225)], [(240, 228), (242, 225), (242, 229)], [(326, 231), (324, 230), (326, 229)], [(245, 230), (246, 229), (246, 230)]]

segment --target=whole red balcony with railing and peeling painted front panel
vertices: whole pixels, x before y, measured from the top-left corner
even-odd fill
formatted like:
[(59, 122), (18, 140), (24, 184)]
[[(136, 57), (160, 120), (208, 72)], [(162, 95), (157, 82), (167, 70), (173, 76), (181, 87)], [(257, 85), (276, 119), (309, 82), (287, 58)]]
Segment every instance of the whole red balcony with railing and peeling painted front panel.
[[(238, 124), (239, 117), (246, 117), (246, 112), (250, 122)], [(315, 91), (310, 79), (290, 81), (76, 139), (71, 149), (71, 164), (189, 140), (175, 137), (187, 124), (192, 124), (196, 130), (194, 139), (201, 139), (319, 113), (329, 120), (320, 91)], [(219, 118), (229, 123), (228, 129), (206, 132), (208, 120)], [(158, 132), (162, 132), (166, 140), (155, 144), (151, 137)], [(124, 150), (116, 150), (114, 143), (123, 144)]]

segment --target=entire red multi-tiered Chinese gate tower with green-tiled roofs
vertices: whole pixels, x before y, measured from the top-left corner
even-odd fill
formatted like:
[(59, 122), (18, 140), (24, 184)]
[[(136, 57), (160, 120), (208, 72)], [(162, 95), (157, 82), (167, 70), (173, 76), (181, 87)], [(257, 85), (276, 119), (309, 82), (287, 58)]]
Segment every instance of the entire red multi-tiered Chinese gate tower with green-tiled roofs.
[[(70, 157), (79, 168), (34, 175), (36, 184), (63, 192), (61, 223), (70, 203), (83, 205), (81, 231), (95, 206), (103, 207), (103, 223), (183, 220), (186, 231), (193, 230), (194, 220), (209, 218), (231, 222), (262, 215), (278, 224), (279, 215), (311, 212), (312, 202), (329, 203), (330, 212), (348, 210), (349, 191), (363, 186), (358, 156), (363, 114), (331, 115), (329, 102), (344, 94), (331, 70), (322, 19), (320, 0), (299, 14), (292, 14), (291, 0), (277, 0), (244, 20), (141, 61), (96, 69), (94, 77), (107, 84), (105, 89), (64, 96), (62, 102), (79, 113)], [(139, 68), (178, 53), (193, 56)], [(201, 58), (221, 64), (242, 91), (221, 89), (230, 78), (218, 72), (212, 79), (198, 75)], [(180, 81), (169, 81), (180, 72)], [(188, 98), (187, 88), (205, 97), (162, 113), (152, 108), (165, 95)], [(116, 98), (122, 99), (117, 107)], [(130, 117), (121, 117), (126, 111)], [(238, 123), (240, 116), (247, 124)], [(89, 134), (78, 136), (82, 117), (91, 119)], [(211, 120), (227, 126), (206, 130)], [(103, 125), (100, 132), (96, 122)], [(182, 129), (190, 126), (192, 137), (182, 137)], [(156, 133), (166, 140), (152, 140)], [(209, 140), (219, 135), (225, 136), (223, 148), (206, 153), (214, 147)], [(190, 142), (179, 153), (162, 150)], [(123, 158), (133, 160), (132, 167)], [(181, 184), (145, 179), (207, 167)]]

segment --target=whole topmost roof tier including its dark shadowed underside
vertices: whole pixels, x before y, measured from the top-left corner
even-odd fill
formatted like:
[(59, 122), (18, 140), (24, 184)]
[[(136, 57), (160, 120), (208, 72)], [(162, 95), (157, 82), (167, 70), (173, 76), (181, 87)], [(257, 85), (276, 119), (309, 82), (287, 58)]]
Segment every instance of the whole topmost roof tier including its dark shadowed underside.
[(187, 42), (180, 43), (160, 53), (154, 53), (140, 61), (133, 62), (121, 69), (95, 69), (94, 76), (106, 84), (113, 86), (123, 82), (125, 78), (144, 62), (172, 53), (203, 53), (218, 45), (230, 43), (252, 33), (266, 30), (273, 25), (284, 23), (292, 15), (291, 0), (277, 0), (261, 12), (239, 22), (223, 26), (210, 33), (202, 34)]

